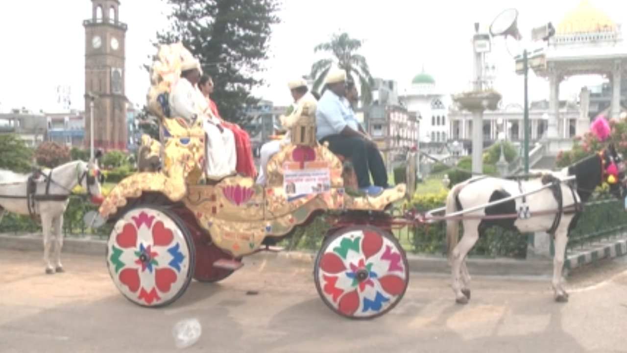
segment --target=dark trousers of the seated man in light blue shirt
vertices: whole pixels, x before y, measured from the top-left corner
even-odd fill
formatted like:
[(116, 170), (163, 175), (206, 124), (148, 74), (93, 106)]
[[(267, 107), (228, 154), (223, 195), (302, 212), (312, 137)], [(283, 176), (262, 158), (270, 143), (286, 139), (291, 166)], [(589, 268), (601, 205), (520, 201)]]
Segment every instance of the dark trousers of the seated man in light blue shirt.
[(357, 184), (360, 188), (370, 186), (370, 176), (377, 187), (387, 187), (386, 165), (376, 146), (356, 136), (329, 135), (320, 142), (329, 142), (329, 149), (336, 155), (349, 158), (355, 168)]

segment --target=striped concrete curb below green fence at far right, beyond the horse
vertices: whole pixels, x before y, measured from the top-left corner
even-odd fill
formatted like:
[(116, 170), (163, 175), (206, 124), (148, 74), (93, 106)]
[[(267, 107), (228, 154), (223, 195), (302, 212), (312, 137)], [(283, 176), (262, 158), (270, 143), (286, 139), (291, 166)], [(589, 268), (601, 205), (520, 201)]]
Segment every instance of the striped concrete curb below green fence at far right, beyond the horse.
[(601, 259), (613, 259), (627, 254), (627, 237), (599, 241), (586, 246), (580, 251), (569, 254), (564, 260), (566, 271), (580, 268)]

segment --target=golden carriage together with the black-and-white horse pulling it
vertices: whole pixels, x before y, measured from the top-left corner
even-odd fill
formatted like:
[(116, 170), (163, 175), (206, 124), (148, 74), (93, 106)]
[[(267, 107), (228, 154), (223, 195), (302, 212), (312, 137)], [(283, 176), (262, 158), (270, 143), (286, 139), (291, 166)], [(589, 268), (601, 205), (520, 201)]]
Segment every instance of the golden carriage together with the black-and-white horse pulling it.
[(325, 304), (345, 317), (374, 318), (401, 300), (409, 268), (392, 229), (435, 221), (447, 222), (457, 303), (470, 300), (466, 256), (492, 225), (553, 234), (552, 286), (555, 299), (567, 301), (564, 251), (582, 202), (603, 183), (617, 198), (625, 197), (624, 161), (610, 143), (561, 172), (524, 176), (529, 180), (478, 176), (451, 188), (443, 209), (393, 216), (396, 205), (413, 193), (416, 152), (408, 153), (407, 185), (376, 197), (349, 192), (352, 182), (342, 161), (315, 139), (315, 108), (307, 104), (292, 126), (291, 143), (269, 161), (265, 186), (241, 175), (207, 180), (202, 123), (168, 114), (181, 52), (181, 45), (162, 46), (152, 68), (149, 109), (161, 122), (161, 141), (144, 138), (140, 158), (161, 168), (125, 178), (100, 207), (100, 215), (115, 224), (107, 247), (111, 277), (138, 305), (168, 305), (192, 278), (223, 280), (243, 266), (243, 257), (272, 250), (320, 213), (326, 214), (330, 230), (315, 260), (315, 286)]

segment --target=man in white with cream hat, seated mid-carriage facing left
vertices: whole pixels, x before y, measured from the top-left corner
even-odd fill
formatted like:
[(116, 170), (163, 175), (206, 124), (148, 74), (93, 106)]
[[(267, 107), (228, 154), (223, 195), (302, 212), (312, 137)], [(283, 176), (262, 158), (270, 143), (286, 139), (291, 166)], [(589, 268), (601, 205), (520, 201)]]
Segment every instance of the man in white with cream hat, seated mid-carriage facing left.
[(268, 166), (270, 158), (277, 154), (283, 146), (290, 143), (289, 129), (292, 128), (292, 125), (298, 120), (298, 117), (300, 117), (303, 104), (310, 103), (315, 107), (317, 103), (317, 99), (308, 91), (307, 82), (305, 82), (305, 80), (297, 79), (289, 82), (288, 87), (290, 88), (294, 102), (292, 106), (288, 108), (287, 116), (280, 116), (281, 124), (284, 129), (287, 129), (287, 134), (280, 140), (266, 142), (261, 146), (261, 166), (259, 177), (257, 178), (257, 183), (260, 185), (265, 185), (266, 183), (266, 166)]

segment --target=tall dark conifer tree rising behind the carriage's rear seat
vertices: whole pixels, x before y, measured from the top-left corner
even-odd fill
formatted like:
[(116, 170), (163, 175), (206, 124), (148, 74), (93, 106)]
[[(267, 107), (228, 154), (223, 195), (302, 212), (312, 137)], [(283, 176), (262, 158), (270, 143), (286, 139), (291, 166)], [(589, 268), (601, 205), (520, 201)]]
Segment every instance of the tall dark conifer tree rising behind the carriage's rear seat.
[(250, 91), (263, 84), (271, 26), (279, 23), (278, 0), (167, 0), (169, 30), (159, 43), (182, 41), (213, 77), (212, 99), (224, 119), (243, 121), (244, 109), (258, 99)]

